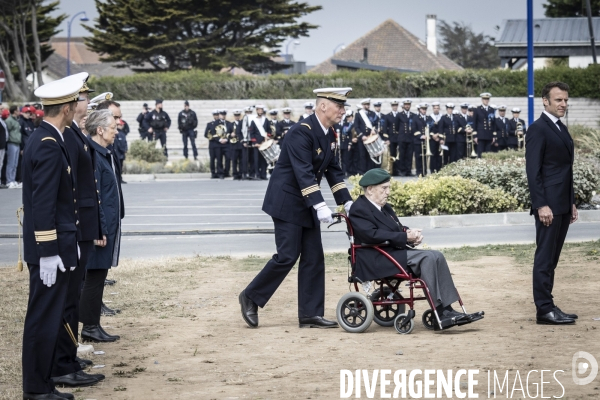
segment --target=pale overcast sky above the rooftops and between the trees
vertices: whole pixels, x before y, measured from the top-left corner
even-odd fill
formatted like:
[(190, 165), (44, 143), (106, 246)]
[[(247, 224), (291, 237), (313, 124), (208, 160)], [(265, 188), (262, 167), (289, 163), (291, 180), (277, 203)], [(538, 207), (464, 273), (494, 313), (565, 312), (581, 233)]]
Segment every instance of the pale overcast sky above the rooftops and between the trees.
[[(425, 40), (425, 16), (437, 15), (438, 20), (465, 22), (479, 33), (495, 37), (494, 29), (505, 19), (526, 18), (525, 0), (305, 0), (311, 5), (321, 5), (322, 10), (304, 18), (319, 28), (309, 32), (310, 37), (300, 38), (298, 46), (289, 45), (290, 53), (298, 61), (315, 65), (333, 54), (340, 44), (348, 45), (388, 18), (394, 19), (409, 32)], [(533, 0), (534, 18), (544, 17), (544, 0)], [(75, 15), (86, 11), (90, 19), (98, 16), (94, 0), (61, 0), (60, 12)], [(69, 18), (70, 19), (70, 18)], [(67, 19), (67, 21), (69, 20)], [(79, 19), (79, 17), (77, 18)], [(59, 36), (67, 36), (67, 21)], [(91, 24), (92, 22), (87, 22)], [(88, 32), (73, 21), (71, 36), (84, 36)], [(285, 53), (285, 49), (282, 51)]]

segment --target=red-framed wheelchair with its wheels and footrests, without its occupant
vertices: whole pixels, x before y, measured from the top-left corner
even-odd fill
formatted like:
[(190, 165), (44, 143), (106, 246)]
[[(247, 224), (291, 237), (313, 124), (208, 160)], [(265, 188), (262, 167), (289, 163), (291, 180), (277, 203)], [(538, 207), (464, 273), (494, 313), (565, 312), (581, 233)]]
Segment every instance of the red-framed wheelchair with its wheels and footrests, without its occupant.
[[(359, 328), (356, 328), (356, 329), (352, 326), (353, 325), (352, 322), (349, 322), (346, 320), (349, 317), (349, 318), (354, 318), (354, 321), (356, 322), (357, 316), (353, 315), (353, 314), (358, 314), (358, 311), (356, 311), (356, 310), (368, 310), (369, 309), (368, 304), (362, 304), (365, 302), (365, 300), (366, 300), (366, 302), (372, 304), (373, 315), (376, 315), (375, 308), (379, 308), (382, 311), (386, 311), (386, 313), (388, 314), (387, 318), (383, 318), (383, 317), (375, 318), (375, 322), (377, 324), (382, 325), (382, 326), (394, 326), (396, 328), (396, 331), (398, 333), (402, 333), (402, 334), (408, 334), (408, 333), (412, 332), (412, 330), (414, 328), (414, 320), (413, 319), (415, 317), (414, 304), (415, 304), (415, 301), (420, 301), (420, 300), (427, 300), (427, 302), (429, 303), (429, 306), (431, 307), (431, 309), (429, 309), (423, 313), (423, 317), (422, 317), (423, 325), (427, 329), (443, 330), (444, 328), (448, 328), (451, 326), (463, 325), (464, 323), (468, 323), (466, 321), (461, 321), (460, 319), (455, 319), (455, 318), (451, 319), (450, 321), (448, 321), (446, 319), (446, 320), (444, 320), (444, 322), (442, 322), (442, 320), (440, 320), (440, 317), (435, 309), (435, 306), (434, 306), (435, 303), (431, 297), (429, 288), (427, 287), (427, 284), (425, 283), (425, 281), (423, 281), (420, 278), (416, 278), (412, 274), (408, 273), (406, 271), (406, 269), (404, 269), (404, 267), (402, 267), (402, 265), (400, 265), (400, 263), (398, 263), (398, 261), (396, 261), (385, 250), (382, 249), (383, 247), (389, 246), (388, 242), (380, 243), (380, 244), (365, 244), (365, 243), (355, 244), (354, 243), (354, 230), (352, 228), (352, 224), (350, 223), (350, 219), (344, 214), (333, 214), (332, 216), (334, 219), (337, 219), (337, 222), (334, 222), (331, 225), (341, 223), (342, 218), (346, 222), (346, 226), (347, 226), (346, 233), (348, 235), (348, 239), (350, 240), (350, 248), (348, 250), (348, 254), (349, 254), (349, 260), (350, 260), (350, 263), (352, 266), (352, 272), (351, 272), (350, 276), (348, 277), (348, 282), (351, 285), (352, 284), (354, 285), (354, 291), (356, 292), (356, 295), (354, 295), (354, 292), (350, 291), (350, 294), (346, 294), (344, 297), (342, 297), (342, 299), (340, 300), (340, 303), (338, 304), (338, 310), (337, 310), (338, 322), (340, 322), (340, 325), (342, 325), (342, 327), (344, 329), (346, 329), (349, 332), (363, 332), (368, 328), (368, 326), (371, 323), (371, 321), (368, 321), (368, 319), (369, 319), (368, 317), (365, 317), (367, 320), (367, 321), (365, 321), (367, 326), (365, 327), (365, 326), (361, 325)], [(329, 225), (329, 226), (331, 226), (331, 225)], [(381, 278), (381, 279), (375, 280), (375, 283), (376, 283), (376, 285), (379, 286), (379, 288), (376, 289), (373, 292), (373, 294), (369, 296), (369, 299), (367, 299), (364, 295), (362, 295), (360, 293), (358, 284), (362, 283), (362, 281), (358, 277), (356, 277), (354, 274), (354, 269), (355, 269), (355, 265), (356, 265), (356, 251), (358, 249), (362, 249), (362, 248), (375, 249), (376, 251), (378, 251), (380, 254), (382, 254), (384, 257), (386, 257), (391, 263), (393, 263), (398, 268), (397, 274), (386, 277), (386, 278)], [(395, 283), (393, 283), (394, 281), (395, 281)], [(402, 282), (407, 282), (406, 286), (408, 286), (409, 292), (410, 292), (409, 297), (406, 297), (406, 298), (403, 297), (398, 290), (398, 288)], [(423, 296), (415, 297), (414, 289), (422, 289)], [(457, 293), (457, 295), (458, 295), (458, 293)], [(361, 299), (359, 296), (364, 297), (364, 299)], [(348, 302), (349, 305), (348, 304), (345, 305), (344, 302)], [(463, 312), (466, 314), (467, 311), (462, 302), (462, 299), (460, 298), (460, 295), (458, 295), (458, 302), (459, 302), (460, 306), (462, 307)], [(400, 308), (404, 307), (406, 305), (408, 305), (410, 308), (409, 312), (406, 314), (400, 313), (399, 312)], [(392, 325), (392, 324), (390, 324), (391, 319), (389, 318), (388, 312), (390, 309), (393, 310), (394, 306), (398, 307), (398, 311), (397, 312), (393, 311), (394, 315), (393, 315), (393, 325)], [(348, 308), (350, 311), (342, 310), (341, 308), (344, 308), (344, 307)], [(351, 309), (351, 308), (354, 308), (354, 309)], [(377, 312), (379, 312), (379, 310)], [(342, 315), (342, 314), (344, 314), (344, 315)], [(368, 314), (368, 312), (367, 312), (367, 314)], [(483, 315), (483, 313), (481, 315)]]

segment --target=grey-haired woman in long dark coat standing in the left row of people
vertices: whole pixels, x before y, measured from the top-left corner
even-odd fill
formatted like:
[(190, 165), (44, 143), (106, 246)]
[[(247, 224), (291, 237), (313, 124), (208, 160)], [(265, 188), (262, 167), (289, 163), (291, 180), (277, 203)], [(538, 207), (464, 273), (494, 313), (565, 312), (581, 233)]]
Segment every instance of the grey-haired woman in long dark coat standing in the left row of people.
[(108, 270), (119, 264), (121, 219), (125, 216), (120, 164), (111, 150), (117, 123), (111, 111), (99, 110), (88, 116), (85, 127), (96, 151), (96, 186), (103, 240), (96, 241), (96, 251), (90, 255), (86, 266), (79, 315), (83, 323), (81, 337), (83, 341), (114, 342), (119, 336), (104, 331), (100, 325), (100, 311)]

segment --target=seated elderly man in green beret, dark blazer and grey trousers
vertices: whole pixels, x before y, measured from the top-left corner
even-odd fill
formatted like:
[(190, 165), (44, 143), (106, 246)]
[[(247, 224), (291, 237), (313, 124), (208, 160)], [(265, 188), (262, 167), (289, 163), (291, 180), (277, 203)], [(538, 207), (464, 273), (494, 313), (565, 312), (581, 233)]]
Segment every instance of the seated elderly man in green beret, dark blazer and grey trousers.
[[(442, 322), (442, 327), (455, 325), (454, 322), (465, 319), (473, 322), (475, 316), (455, 311), (452, 303), (457, 302), (458, 291), (454, 286), (448, 263), (444, 255), (435, 250), (417, 250), (423, 241), (420, 229), (403, 226), (392, 207), (387, 204), (390, 194), (390, 174), (375, 168), (368, 171), (359, 185), (364, 195), (356, 199), (350, 210), (350, 221), (354, 228), (356, 244), (380, 244), (389, 242), (385, 251), (409, 273), (425, 281)], [(362, 281), (372, 281), (400, 273), (396, 265), (376, 249), (364, 248), (356, 251), (355, 276)], [(437, 324), (436, 324), (437, 325)], [(435, 326), (435, 325), (434, 325)]]

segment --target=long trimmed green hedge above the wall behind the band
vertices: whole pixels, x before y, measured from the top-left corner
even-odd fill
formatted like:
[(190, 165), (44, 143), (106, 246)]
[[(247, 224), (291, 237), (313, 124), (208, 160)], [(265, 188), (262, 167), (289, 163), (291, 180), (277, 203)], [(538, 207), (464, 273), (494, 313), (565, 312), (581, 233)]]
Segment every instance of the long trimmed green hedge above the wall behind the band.
[[(600, 67), (554, 67), (535, 71), (535, 93), (550, 81), (571, 87), (571, 97), (600, 98)], [(473, 97), (482, 91), (494, 96), (527, 96), (527, 72), (494, 70), (433, 71), (407, 74), (394, 71), (342, 71), (331, 75), (232, 76), (212, 71), (139, 73), (127, 77), (93, 78), (90, 87), (110, 91), (119, 100), (306, 99), (317, 87), (352, 87), (353, 98)]]

